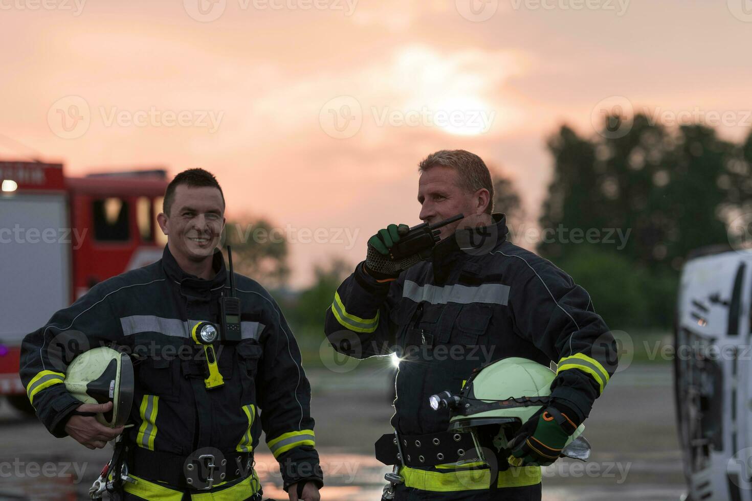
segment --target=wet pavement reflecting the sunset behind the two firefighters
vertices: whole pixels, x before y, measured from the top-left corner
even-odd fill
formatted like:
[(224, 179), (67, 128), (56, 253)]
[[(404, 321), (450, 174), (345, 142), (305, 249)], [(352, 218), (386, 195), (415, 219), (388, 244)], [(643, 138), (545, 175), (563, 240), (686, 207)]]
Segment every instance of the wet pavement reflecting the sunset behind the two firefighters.
[[(387, 361), (348, 373), (309, 370), (317, 448), (326, 475), (322, 499), (380, 499), (387, 466), (373, 442), (390, 432), (393, 409)], [(587, 463), (559, 460), (543, 470), (544, 501), (675, 501), (684, 477), (675, 429), (669, 364), (632, 365), (617, 374), (586, 421)], [(0, 499), (88, 499), (111, 450), (89, 451), (55, 439), (36, 418), (0, 403)], [(280, 472), (265, 445), (256, 454), (265, 498), (282, 500)]]

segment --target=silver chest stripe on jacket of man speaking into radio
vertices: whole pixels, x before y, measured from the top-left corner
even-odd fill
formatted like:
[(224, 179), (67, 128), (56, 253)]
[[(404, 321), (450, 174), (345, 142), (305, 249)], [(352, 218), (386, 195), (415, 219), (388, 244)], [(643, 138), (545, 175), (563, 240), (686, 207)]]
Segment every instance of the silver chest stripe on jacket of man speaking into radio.
[(493, 303), (506, 305), (509, 300), (509, 285), (503, 284), (484, 284), (478, 287), (468, 287), (467, 285), (417, 285), (411, 280), (405, 280), (405, 286), (402, 288), (402, 297), (420, 301), (428, 301), (431, 304), (446, 303)]

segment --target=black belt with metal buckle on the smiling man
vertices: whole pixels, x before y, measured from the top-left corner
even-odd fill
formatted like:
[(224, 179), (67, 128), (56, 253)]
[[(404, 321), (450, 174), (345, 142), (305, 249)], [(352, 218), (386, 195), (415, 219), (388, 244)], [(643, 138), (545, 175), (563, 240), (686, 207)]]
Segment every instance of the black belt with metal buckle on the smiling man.
[(199, 450), (190, 456), (129, 447), (128, 469), (148, 481), (160, 481), (178, 489), (209, 490), (220, 482), (246, 478), (253, 472), (252, 452)]

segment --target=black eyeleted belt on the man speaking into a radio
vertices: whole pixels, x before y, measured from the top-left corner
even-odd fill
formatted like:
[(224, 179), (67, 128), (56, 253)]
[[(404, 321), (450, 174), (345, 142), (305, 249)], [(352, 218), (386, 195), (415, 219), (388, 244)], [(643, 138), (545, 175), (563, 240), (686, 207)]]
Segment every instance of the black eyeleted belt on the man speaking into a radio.
[(381, 463), (404, 466), (436, 466), (462, 460), (477, 461), (475, 442), (470, 433), (445, 431), (426, 435), (391, 433), (374, 444)]

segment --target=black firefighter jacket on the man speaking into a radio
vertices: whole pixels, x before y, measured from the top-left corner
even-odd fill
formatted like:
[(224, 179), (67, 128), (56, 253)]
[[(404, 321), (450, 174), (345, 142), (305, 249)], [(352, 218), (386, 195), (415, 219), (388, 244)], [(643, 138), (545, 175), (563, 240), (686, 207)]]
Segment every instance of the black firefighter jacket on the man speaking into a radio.
[(447, 430), (429, 397), (459, 393), (476, 367), (522, 357), (558, 364), (551, 397), (587, 418), (617, 367), (614, 337), (584, 288), (494, 225), (458, 231), (432, 257), (379, 282), (356, 267), (326, 312), (326, 335), (356, 358), (397, 353), (392, 425), (405, 435)]

